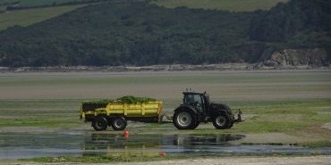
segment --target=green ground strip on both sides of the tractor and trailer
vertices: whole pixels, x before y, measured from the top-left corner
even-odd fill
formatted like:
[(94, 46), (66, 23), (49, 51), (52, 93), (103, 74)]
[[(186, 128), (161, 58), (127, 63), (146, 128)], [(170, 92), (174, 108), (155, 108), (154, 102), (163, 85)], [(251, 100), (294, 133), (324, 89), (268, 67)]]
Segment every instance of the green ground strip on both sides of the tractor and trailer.
[[(78, 111), (81, 100), (1, 100), (0, 128), (40, 127), (77, 128), (83, 125)], [(298, 128), (320, 126), (331, 122), (330, 100), (300, 101), (235, 101), (229, 102), (233, 109), (241, 108), (248, 120), (235, 126), (235, 129), (222, 130), (222, 133), (291, 133)], [(328, 108), (323, 108), (328, 107)], [(52, 117), (52, 118), (50, 118)], [(130, 126), (129, 126), (130, 127)], [(170, 124), (150, 124), (148, 128), (169, 128), (163, 133), (174, 132)], [(133, 130), (134, 131), (134, 130)], [(210, 129), (197, 129), (195, 133), (215, 133)]]

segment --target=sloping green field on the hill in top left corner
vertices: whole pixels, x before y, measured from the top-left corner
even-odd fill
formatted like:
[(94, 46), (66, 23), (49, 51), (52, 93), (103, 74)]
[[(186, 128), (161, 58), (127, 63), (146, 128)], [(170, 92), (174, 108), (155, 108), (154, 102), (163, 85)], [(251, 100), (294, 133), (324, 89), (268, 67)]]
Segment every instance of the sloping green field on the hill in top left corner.
[(15, 25), (27, 27), (40, 21), (46, 21), (64, 12), (73, 11), (82, 6), (83, 5), (66, 5), (4, 12), (0, 14), (0, 30), (4, 30)]

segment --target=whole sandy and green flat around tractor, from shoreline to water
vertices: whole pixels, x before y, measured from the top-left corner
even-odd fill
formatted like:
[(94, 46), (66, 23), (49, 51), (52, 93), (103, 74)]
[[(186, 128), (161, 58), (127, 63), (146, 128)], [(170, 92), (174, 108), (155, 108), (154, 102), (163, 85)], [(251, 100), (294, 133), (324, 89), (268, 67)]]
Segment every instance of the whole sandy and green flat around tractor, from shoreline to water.
[[(89, 123), (79, 120), (82, 101), (123, 95), (149, 96), (164, 101), (164, 111), (171, 113), (181, 103), (181, 92), (192, 88), (207, 91), (213, 102), (228, 103), (233, 111), (242, 109), (246, 120), (225, 130), (217, 130), (210, 123), (184, 131), (170, 123), (129, 123), (131, 134), (241, 134), (245, 138), (236, 141), (237, 144), (331, 146), (330, 75), (330, 70), (1, 73), (0, 132), (93, 133)], [(104, 133), (121, 134), (111, 128)], [(129, 158), (64, 159), (106, 162)], [(132, 157), (129, 160), (163, 159)]]

